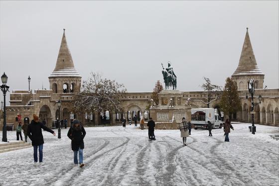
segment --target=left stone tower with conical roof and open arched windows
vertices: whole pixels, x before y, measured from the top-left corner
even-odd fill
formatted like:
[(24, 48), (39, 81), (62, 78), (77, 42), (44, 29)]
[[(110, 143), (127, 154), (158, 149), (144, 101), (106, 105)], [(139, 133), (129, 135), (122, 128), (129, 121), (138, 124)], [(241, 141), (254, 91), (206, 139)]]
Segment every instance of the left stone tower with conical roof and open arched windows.
[(81, 76), (75, 69), (71, 52), (68, 48), (65, 29), (53, 72), (48, 77), (53, 93), (80, 92)]

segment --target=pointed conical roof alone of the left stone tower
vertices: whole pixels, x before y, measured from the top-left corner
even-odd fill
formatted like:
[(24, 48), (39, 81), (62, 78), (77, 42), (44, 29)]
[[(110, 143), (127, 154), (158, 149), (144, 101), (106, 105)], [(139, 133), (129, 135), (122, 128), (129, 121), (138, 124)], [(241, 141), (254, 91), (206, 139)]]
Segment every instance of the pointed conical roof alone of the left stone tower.
[(49, 77), (81, 77), (75, 69), (72, 55), (67, 45), (65, 29), (61, 40), (56, 66)]

